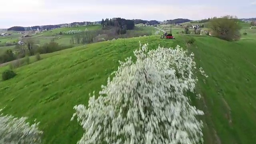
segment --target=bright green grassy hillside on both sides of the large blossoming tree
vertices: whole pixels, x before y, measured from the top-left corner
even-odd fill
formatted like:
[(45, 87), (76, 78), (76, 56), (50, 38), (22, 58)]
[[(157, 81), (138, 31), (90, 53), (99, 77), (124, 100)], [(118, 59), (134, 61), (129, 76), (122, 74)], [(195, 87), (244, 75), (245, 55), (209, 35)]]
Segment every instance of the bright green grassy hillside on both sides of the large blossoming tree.
[[(176, 40), (150, 36), (100, 42), (52, 53), (51, 57), (18, 68), (15, 78), (0, 82), (0, 108), (6, 105), (6, 114), (37, 118), (44, 130), (44, 144), (74, 144), (82, 136), (82, 129), (77, 122), (70, 122), (72, 107), (87, 104), (88, 93), (98, 92), (100, 85), (106, 84), (118, 60), (131, 56), (138, 48), (138, 40), (148, 42), (150, 48), (158, 44), (185, 45), (186, 37), (175, 37)], [(194, 101), (206, 112), (205, 143), (214, 144), (218, 135), (222, 144), (252, 144), (256, 141), (255, 36), (245, 36), (238, 42), (194, 38), (196, 46), (190, 50), (209, 76), (205, 83), (199, 76), (198, 91), (204, 100)], [(6, 68), (0, 68), (0, 72)]]

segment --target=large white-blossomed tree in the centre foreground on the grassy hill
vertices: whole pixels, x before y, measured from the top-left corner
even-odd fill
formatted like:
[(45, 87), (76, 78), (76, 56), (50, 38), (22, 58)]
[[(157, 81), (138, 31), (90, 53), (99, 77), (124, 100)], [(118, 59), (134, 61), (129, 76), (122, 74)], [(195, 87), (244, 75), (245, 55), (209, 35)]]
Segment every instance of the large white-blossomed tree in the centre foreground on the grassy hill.
[[(78, 144), (198, 144), (203, 142), (204, 112), (190, 105), (187, 92), (198, 81), (194, 54), (180, 46), (147, 44), (134, 51), (136, 62), (126, 58), (112, 80), (108, 78), (99, 96), (88, 107), (74, 106), (84, 129)], [(200, 68), (200, 72), (204, 71)]]

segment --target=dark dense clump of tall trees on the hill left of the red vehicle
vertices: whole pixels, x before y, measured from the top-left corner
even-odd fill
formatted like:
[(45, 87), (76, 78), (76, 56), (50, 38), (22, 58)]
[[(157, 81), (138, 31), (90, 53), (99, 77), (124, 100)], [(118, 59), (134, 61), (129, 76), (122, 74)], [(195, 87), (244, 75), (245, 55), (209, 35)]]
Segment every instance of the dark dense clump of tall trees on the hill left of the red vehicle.
[(106, 18), (102, 19), (101, 23), (103, 29), (115, 28), (117, 34), (125, 34), (126, 30), (133, 30), (135, 27), (133, 20), (126, 20), (124, 18)]

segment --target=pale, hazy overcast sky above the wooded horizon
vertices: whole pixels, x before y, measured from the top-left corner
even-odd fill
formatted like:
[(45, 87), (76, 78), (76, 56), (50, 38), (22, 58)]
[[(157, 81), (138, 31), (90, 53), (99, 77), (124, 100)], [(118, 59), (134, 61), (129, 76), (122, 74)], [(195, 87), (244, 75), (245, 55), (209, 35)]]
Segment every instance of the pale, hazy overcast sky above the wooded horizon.
[(200, 20), (256, 17), (256, 0), (0, 0), (0, 28), (41, 26), (102, 18)]

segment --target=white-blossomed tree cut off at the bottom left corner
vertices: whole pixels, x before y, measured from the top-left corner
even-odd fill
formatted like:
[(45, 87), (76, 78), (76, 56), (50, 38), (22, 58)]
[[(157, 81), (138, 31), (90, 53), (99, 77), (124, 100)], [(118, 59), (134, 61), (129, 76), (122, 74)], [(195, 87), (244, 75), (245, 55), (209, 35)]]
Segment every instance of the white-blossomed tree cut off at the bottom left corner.
[(40, 144), (42, 131), (38, 130), (39, 122), (30, 125), (26, 119), (1, 114), (0, 144)]

